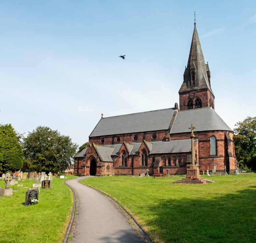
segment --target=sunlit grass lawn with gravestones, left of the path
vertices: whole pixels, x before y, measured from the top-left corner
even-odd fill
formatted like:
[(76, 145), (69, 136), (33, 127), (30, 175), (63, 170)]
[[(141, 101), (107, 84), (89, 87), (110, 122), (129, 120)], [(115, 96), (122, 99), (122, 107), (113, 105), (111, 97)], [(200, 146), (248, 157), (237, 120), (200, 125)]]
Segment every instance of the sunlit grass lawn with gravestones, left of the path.
[[(76, 176), (67, 176), (74, 179)], [(39, 203), (24, 206), (28, 188), (10, 186), (11, 197), (0, 197), (0, 243), (62, 242), (71, 217), (73, 193), (64, 180), (53, 178), (51, 189), (40, 188)], [(0, 187), (5, 188), (0, 180)], [(23, 187), (33, 187), (34, 180), (19, 181)]]

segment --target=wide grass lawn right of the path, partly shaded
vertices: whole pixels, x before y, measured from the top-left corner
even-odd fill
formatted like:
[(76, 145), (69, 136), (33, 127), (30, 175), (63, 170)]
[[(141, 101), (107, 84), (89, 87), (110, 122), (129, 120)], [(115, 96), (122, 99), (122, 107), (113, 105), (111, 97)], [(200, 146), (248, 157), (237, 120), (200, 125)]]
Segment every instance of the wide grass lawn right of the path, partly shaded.
[[(179, 177), (81, 180), (114, 198), (154, 242), (256, 242), (256, 174), (210, 177), (206, 185), (174, 185)], [(97, 212), (95, 212), (97, 213)]]

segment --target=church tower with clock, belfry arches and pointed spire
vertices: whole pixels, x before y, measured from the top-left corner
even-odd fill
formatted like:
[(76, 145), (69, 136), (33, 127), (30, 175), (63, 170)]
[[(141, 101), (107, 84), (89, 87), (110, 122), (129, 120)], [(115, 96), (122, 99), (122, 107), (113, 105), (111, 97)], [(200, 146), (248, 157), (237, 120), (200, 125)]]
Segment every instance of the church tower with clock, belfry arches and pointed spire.
[(205, 64), (196, 27), (194, 27), (188, 64), (185, 68), (179, 95), (180, 110), (202, 107), (212, 107), (214, 109), (214, 95), (210, 85), (210, 69), (208, 63)]

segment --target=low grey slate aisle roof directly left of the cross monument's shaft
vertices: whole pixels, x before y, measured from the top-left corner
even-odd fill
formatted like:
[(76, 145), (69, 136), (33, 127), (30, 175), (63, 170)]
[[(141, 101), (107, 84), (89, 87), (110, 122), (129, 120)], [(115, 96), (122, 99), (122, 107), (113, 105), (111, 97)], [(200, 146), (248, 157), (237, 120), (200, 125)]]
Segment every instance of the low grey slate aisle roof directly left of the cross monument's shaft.
[[(195, 139), (195, 142), (197, 139)], [(188, 153), (191, 151), (191, 139), (157, 141), (153, 144), (150, 154)]]

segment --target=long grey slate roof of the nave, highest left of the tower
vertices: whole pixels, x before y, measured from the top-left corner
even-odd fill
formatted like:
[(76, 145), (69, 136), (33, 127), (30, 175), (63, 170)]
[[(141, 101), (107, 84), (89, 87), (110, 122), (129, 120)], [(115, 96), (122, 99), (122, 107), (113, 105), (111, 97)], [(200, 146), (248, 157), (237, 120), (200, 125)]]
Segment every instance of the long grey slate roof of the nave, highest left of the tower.
[(89, 137), (168, 130), (174, 108), (152, 110), (100, 120)]

